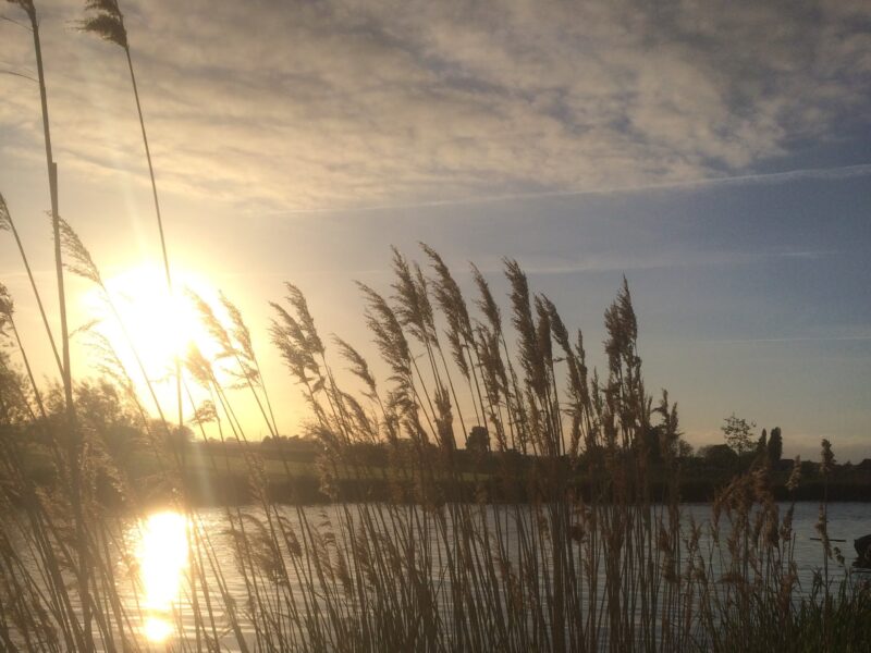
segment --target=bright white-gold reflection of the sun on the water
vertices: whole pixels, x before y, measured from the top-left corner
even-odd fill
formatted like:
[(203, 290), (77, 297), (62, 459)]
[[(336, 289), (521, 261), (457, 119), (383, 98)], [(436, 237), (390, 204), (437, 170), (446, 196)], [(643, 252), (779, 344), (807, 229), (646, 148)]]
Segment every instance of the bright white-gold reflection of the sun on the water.
[(187, 569), (187, 521), (179, 513), (156, 513), (142, 525), (136, 557), (143, 587), (143, 633), (152, 642), (173, 633), (173, 604)]

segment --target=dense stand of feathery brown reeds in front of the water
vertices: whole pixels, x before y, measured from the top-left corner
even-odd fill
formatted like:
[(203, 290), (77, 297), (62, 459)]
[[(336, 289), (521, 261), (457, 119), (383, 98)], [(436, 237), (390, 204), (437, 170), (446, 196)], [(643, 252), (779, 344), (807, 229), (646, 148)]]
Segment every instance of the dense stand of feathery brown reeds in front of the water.
[[(69, 227), (63, 233), (71, 269), (101, 284), (87, 250)], [(401, 275), (405, 269), (400, 267)], [(101, 396), (109, 406), (121, 405), (123, 396), (131, 399), (118, 419), (143, 433), (140, 444), (126, 446), (161, 453), (164, 480), (175, 486), (176, 506), (194, 525), (184, 601), (194, 624), (188, 637), (194, 639), (180, 645), (727, 651), (735, 642), (761, 642), (761, 649), (830, 639), (851, 645), (850, 629), (861, 628), (859, 611), (868, 590), (848, 581), (833, 590), (824, 571), (809, 594), (799, 590), (793, 508), (781, 516), (764, 465), (724, 488), (711, 506), (709, 528), (685, 522), (677, 411), (667, 394), (654, 405), (643, 393), (627, 286), (606, 311), (608, 377), (600, 380), (593, 373), (582, 382), (582, 338), (571, 343), (555, 306), (531, 293), (512, 261), (506, 274), (513, 322), (520, 333), (516, 348), (507, 334), (499, 337), (504, 338), (504, 350), (517, 352), (518, 362), (493, 344), (492, 321), (488, 326), (479, 322), (462, 337), (469, 338), (469, 352), (475, 353), (470, 359), (483, 385), (475, 391), (484, 409), (480, 414), (491, 416), (488, 423), (523, 429), (531, 452), (525, 457), (514, 453), (505, 438), (495, 438), (493, 451), (477, 458), (459, 448), (452, 430), (453, 412), (459, 407), (445, 389), (450, 374), (465, 375), (461, 366), (438, 355), (439, 319), (449, 330), (450, 321), (437, 310), (430, 321), (420, 296), (408, 286), (393, 299), (361, 286), (367, 320), (391, 370), (389, 379), (377, 380), (356, 348), (334, 338), (336, 353), (351, 366), (351, 378), (363, 385), (357, 397), (340, 384), (345, 377), (333, 369), (330, 347), (302, 292), (289, 286), (287, 308), (274, 307), (272, 337), (312, 408), (309, 432), (320, 443), (323, 491), (336, 498), (320, 514), (277, 504), (270, 496), (272, 480), (260, 448), (248, 442), (246, 426), (233, 407), (234, 393), (219, 381), (214, 368), (229, 361), (246, 392), (261, 396), (260, 380), (252, 373), (249, 336), (238, 331), (241, 316), (228, 313), (224, 323), (196, 298), (221, 354), (218, 360), (195, 353), (188, 359), (192, 379), (212, 397), (192, 423), (218, 423), (221, 432), (229, 429), (240, 441), (254, 501), (247, 507), (224, 508), (228, 530), (222, 535), (204, 530), (197, 510), (184, 505), (185, 461), (173, 457), (179, 451), (167, 438), (156, 436), (169, 434), (165, 420), (155, 431), (118, 357), (102, 364), (107, 373)], [(415, 282), (415, 292), (436, 287), (437, 281)], [(408, 276), (401, 276), (397, 284), (407, 282)], [(486, 296), (482, 303), (488, 306)], [(492, 305), (490, 313), (496, 315)], [(11, 300), (3, 300), (2, 315), (12, 329)], [(481, 320), (490, 318), (481, 315)], [(241, 338), (233, 335), (233, 325)], [(562, 356), (555, 356), (556, 348)], [(26, 358), (22, 360), (26, 368)], [(116, 576), (123, 574), (118, 557), (133, 555), (124, 549), (123, 525), (148, 503), (137, 495), (142, 481), (131, 466), (130, 449), (109, 444), (111, 420), (94, 419), (111, 410), (95, 403), (93, 387), (78, 384), (76, 402), (88, 434), (81, 490), (94, 564), (88, 595), (94, 596), (95, 629), (85, 640), (76, 608), (81, 594), (71, 594), (62, 580), (64, 569), (75, 567), (69, 565), (79, 545), (65, 534), (64, 500), (37, 488), (21, 470), (13, 472), (28, 451), (21, 433), (45, 429), (51, 447), (59, 430), (50, 424), (58, 423), (63, 403), (53, 399), (42, 402), (42, 408), (27, 408), (40, 389), (32, 374), (19, 377), (8, 358), (2, 362), (3, 378), (13, 380), (20, 395), (17, 409), (3, 406), (2, 411), (4, 486), (17, 493), (4, 495), (4, 519), (13, 527), (4, 532), (24, 533), (24, 540), (7, 543), (1, 578), (10, 595), (14, 591), (27, 597), (32, 604), (26, 609), (44, 619), (24, 619), (21, 607), (21, 614), (10, 613), (19, 615), (15, 619), (4, 617), (0, 634), (26, 642), (19, 645), (29, 650), (60, 650), (56, 644), (63, 637), (52, 640), (48, 632), (62, 632), (65, 645), (75, 650), (109, 650), (122, 641), (130, 650), (146, 650), (147, 642), (137, 639), (137, 608), (119, 591)], [(109, 374), (110, 369), (115, 372)], [(260, 407), (265, 423), (271, 426), (270, 411), (265, 404)], [(645, 436), (651, 424), (670, 475), (668, 491), (657, 497), (659, 502), (651, 496), (653, 464)], [(372, 467), (358, 456), (359, 445), (373, 443), (387, 452), (382, 466)], [(205, 451), (213, 471), (222, 464), (229, 470), (226, 449), (223, 460), (220, 453)], [(284, 473), (293, 475), (286, 459)], [(95, 490), (107, 479), (123, 497), (121, 514), (110, 510)], [(355, 483), (340, 494), (339, 486), (349, 481)], [(391, 488), (389, 501), (370, 503), (365, 494), (354, 494), (354, 488), (372, 481)], [(797, 482), (796, 476), (790, 486)], [(30, 498), (22, 501), (26, 496)], [(234, 569), (219, 562), (220, 537), (231, 543)], [(823, 553), (836, 555), (833, 549)], [(230, 574), (241, 579), (242, 597), (229, 589)], [(809, 634), (814, 628), (822, 630)]]

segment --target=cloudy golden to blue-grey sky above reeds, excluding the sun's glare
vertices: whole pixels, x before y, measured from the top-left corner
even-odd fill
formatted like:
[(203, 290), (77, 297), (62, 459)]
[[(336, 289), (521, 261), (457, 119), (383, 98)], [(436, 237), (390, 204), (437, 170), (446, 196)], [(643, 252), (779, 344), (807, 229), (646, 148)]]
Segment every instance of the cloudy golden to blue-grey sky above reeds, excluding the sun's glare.
[[(159, 244), (126, 60), (76, 30), (83, 4), (37, 2), (61, 214), (124, 279)], [(625, 274), (648, 390), (694, 445), (735, 412), (780, 426), (787, 456), (827, 438), (871, 457), (867, 2), (121, 8), (173, 266), (243, 309), (283, 432), (305, 412), (267, 334), (282, 282), (373, 355), (353, 281), (389, 292), (390, 246), (422, 241), (469, 295), (468, 261), (504, 296), (515, 258), (600, 368)], [(30, 34), (0, 21), (0, 193), (53, 293), (34, 70)], [(8, 237), (0, 281), (50, 374)]]

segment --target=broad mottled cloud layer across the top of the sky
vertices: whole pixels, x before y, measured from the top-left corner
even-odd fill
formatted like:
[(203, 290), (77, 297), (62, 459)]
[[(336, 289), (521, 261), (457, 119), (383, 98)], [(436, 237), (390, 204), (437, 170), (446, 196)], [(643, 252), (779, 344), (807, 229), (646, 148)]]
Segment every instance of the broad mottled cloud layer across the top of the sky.
[[(58, 158), (142, 177), (123, 56), (48, 0)], [(860, 2), (125, 2), (161, 187), (248, 210), (536, 196), (752, 176), (871, 109)], [(11, 10), (10, 10), (11, 11)], [(0, 25), (4, 65), (33, 67)], [(3, 76), (0, 151), (38, 155)], [(143, 180), (144, 181), (144, 180)]]

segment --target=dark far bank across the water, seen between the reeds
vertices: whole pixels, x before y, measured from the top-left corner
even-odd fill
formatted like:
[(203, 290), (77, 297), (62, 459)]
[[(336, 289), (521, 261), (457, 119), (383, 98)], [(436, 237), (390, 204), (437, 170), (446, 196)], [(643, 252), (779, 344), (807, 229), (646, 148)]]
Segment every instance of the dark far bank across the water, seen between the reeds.
[[(79, 387), (78, 394), (79, 403), (89, 406), (89, 419), (106, 422), (100, 430), (111, 433), (109, 438), (115, 441), (112, 448), (124, 452), (118, 464), (124, 467), (125, 477), (139, 485), (143, 496), (150, 496), (150, 503), (164, 503), (169, 495), (158, 473), (159, 459), (152, 454), (145, 433), (137, 428), (134, 412), (124, 409), (115, 389), (108, 383), (86, 384)], [(269, 497), (278, 503), (384, 502), (393, 500), (397, 491), (402, 501), (413, 500), (409, 483), (390, 482), (391, 451), (385, 443), (348, 445), (347, 455), (359, 461), (361, 471), (355, 477), (336, 478), (331, 496), (320, 483), (318, 460), (324, 454), (324, 447), (317, 439), (277, 436), (247, 444), (237, 440), (197, 440), (189, 429), (183, 433), (184, 436), (174, 445), (184, 460), (180, 480), (188, 500), (199, 506), (245, 505), (255, 500), (254, 479), (246, 456), (259, 460)], [(652, 501), (663, 502), (667, 500), (670, 470), (663, 465), (654, 436), (658, 438), (655, 431), (649, 438), (650, 493)], [(32, 443), (25, 456), (28, 473), (38, 485), (53, 485), (58, 478), (51, 466), (49, 447), (39, 443), (38, 432), (32, 433), (27, 440)], [(408, 445), (410, 442), (406, 443)], [(756, 455), (740, 459), (734, 453), (725, 453), (727, 445), (714, 445), (708, 452), (702, 451), (702, 455), (688, 454), (678, 458), (682, 502), (713, 501), (735, 477), (736, 468), (749, 471), (761, 465)], [(468, 445), (467, 448), (457, 448), (453, 457), (458, 476), (436, 480), (444, 501), (511, 503), (536, 500), (535, 478), (542, 473), (540, 457), (511, 449), (489, 451), (489, 443), (481, 451)], [(213, 465), (216, 461), (217, 466)], [(571, 491), (590, 501), (594, 488), (603, 481), (603, 467), (585, 455), (576, 460), (566, 456), (561, 464), (571, 479)], [(871, 500), (871, 460), (835, 465), (829, 475), (822, 473), (819, 463), (806, 460), (800, 463), (802, 482), (790, 491), (787, 483), (794, 464), (794, 460), (769, 464), (771, 491), (776, 501)], [(98, 477), (97, 488), (98, 497), (107, 507), (126, 507), (124, 495), (111, 478), (106, 475)]]

